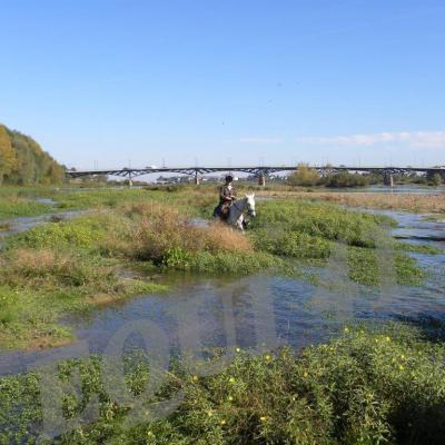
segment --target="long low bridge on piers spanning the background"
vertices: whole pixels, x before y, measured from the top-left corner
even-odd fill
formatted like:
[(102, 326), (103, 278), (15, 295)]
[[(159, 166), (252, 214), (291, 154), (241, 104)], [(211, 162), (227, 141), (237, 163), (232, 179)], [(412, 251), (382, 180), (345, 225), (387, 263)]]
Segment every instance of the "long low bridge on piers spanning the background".
[[(362, 172), (362, 174), (379, 174), (384, 177), (385, 185), (394, 186), (394, 175), (407, 175), (412, 172), (425, 174), (433, 176), (438, 174), (445, 180), (445, 166), (442, 167), (348, 167), (348, 166), (308, 166), (320, 175), (335, 174), (339, 171)], [(260, 186), (266, 185), (266, 178), (270, 174), (281, 171), (295, 171), (297, 166), (257, 166), (257, 167), (146, 167), (146, 168), (121, 168), (109, 170), (67, 170), (66, 175), (69, 178), (81, 178), (88, 176), (118, 176), (128, 179), (129, 185), (139, 176), (151, 174), (180, 174), (188, 175), (195, 178), (195, 184), (199, 185), (201, 176), (214, 172), (237, 171), (254, 175), (258, 178)]]

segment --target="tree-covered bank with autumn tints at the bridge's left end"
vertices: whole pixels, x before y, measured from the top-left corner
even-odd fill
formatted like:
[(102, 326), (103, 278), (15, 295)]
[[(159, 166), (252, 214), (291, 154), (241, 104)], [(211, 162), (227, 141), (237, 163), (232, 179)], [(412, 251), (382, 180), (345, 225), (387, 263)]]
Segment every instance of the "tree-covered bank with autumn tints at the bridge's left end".
[(0, 185), (52, 185), (63, 178), (65, 167), (39, 144), (0, 125)]

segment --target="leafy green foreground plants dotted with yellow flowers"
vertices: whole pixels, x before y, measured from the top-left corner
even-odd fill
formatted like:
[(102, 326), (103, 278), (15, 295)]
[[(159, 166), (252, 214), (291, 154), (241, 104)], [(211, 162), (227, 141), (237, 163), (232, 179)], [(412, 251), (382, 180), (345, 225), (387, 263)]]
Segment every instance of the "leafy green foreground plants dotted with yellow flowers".
[[(224, 354), (216, 352), (215, 358)], [(59, 365), (60, 382), (80, 373), (81, 398), (68, 393), (66, 418), (99, 402), (98, 417), (46, 444), (443, 444), (445, 441), (445, 347), (402, 324), (345, 327), (340, 337), (307, 347), (250, 355), (236, 352), (217, 375), (201, 377), (181, 359), (171, 365), (154, 396), (145, 396), (150, 367), (125, 359), (127, 394), (148, 411), (179, 390), (184, 400), (165, 418), (144, 411), (125, 427), (134, 403), (116, 403), (103, 386), (101, 359)], [(39, 376), (0, 379), (0, 443), (33, 444), (41, 427)], [(156, 413), (156, 407), (154, 408)]]

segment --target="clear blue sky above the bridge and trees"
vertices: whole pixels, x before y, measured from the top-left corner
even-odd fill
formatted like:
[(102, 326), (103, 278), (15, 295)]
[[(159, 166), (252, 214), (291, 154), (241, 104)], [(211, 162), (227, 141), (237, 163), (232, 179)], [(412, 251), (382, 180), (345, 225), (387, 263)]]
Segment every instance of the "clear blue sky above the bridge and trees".
[(445, 165), (442, 0), (0, 11), (0, 122), (69, 167)]

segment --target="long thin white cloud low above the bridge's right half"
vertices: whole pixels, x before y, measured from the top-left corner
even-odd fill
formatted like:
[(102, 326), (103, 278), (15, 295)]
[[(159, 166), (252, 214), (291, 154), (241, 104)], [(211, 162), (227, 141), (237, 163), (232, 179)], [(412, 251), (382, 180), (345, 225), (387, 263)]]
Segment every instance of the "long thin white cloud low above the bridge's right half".
[(368, 135), (298, 137), (296, 141), (316, 145), (364, 146), (404, 144), (416, 148), (444, 148), (445, 131), (402, 131)]

